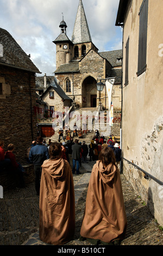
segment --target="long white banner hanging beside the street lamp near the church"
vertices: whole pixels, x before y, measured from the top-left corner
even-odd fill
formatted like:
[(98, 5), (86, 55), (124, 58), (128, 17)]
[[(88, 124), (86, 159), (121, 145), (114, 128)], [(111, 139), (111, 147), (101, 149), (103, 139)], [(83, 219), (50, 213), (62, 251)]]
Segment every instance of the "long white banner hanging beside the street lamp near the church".
[(106, 92), (108, 93), (108, 109), (109, 109), (109, 125), (113, 125), (113, 105), (112, 105), (112, 87), (114, 85), (115, 78), (111, 78), (110, 81), (106, 80)]

